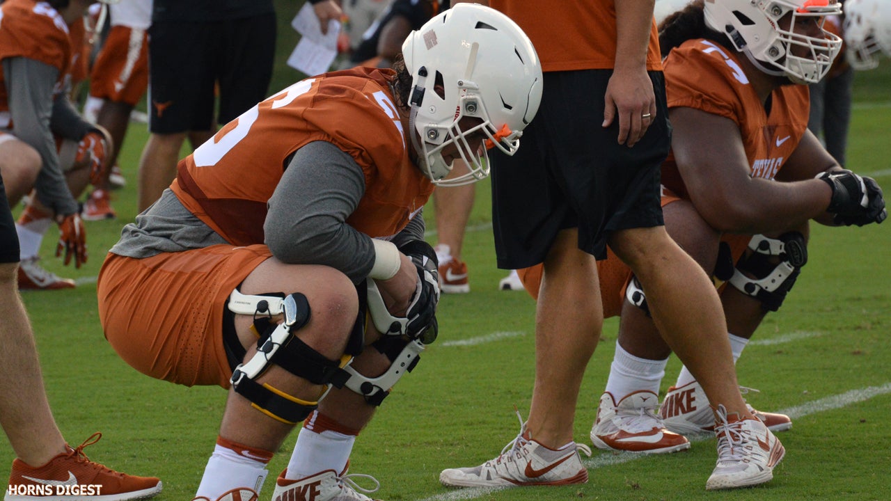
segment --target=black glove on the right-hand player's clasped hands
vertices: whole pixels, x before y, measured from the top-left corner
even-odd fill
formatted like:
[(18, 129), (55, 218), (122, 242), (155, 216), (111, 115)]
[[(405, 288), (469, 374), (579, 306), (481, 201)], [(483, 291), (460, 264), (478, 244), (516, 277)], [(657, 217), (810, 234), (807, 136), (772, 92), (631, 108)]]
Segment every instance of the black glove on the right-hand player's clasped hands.
[(887, 218), (882, 190), (871, 177), (860, 177), (850, 170), (826, 171), (817, 176), (832, 188), (830, 206), (838, 225), (863, 226), (881, 223)]

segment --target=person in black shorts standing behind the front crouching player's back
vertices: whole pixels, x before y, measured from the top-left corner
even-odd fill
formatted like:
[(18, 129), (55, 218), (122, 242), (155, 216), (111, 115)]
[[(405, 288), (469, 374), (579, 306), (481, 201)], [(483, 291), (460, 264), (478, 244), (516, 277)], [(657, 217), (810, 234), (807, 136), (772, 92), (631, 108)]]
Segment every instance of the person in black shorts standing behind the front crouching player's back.
[[(272, 0), (155, 0), (149, 29), (149, 130), (139, 209), (176, 177), (185, 137), (204, 143), (266, 99), (275, 53)], [(215, 118), (215, 100), (219, 97)]]

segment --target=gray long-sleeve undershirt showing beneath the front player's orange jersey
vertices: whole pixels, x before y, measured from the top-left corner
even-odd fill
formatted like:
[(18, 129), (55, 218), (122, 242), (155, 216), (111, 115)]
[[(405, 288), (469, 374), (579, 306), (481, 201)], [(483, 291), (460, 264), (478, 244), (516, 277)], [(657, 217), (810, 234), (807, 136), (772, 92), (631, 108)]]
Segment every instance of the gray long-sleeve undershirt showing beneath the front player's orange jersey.
[[(374, 264), (372, 239), (347, 224), (365, 191), (364, 173), (346, 152), (317, 141), (294, 153), (268, 202), (266, 245), (290, 264), (334, 267), (354, 283)], [(421, 213), (392, 239), (396, 245), (422, 240)], [(225, 243), (222, 236), (185, 209), (167, 190), (151, 208), (124, 227), (111, 252), (148, 258), (159, 252)]]

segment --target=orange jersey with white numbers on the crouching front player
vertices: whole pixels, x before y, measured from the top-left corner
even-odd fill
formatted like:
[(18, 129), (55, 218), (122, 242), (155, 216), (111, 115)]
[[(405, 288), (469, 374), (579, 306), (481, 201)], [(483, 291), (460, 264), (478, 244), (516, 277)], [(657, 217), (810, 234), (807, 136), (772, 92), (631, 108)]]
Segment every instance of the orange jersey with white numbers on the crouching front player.
[(397, 234), (423, 208), (433, 185), (409, 159), (411, 146), (388, 87), (393, 74), (356, 68), (288, 87), (180, 160), (171, 189), (227, 241), (263, 243), (266, 201), (290, 154), (326, 141), (364, 171), (365, 192), (347, 224), (371, 237)]

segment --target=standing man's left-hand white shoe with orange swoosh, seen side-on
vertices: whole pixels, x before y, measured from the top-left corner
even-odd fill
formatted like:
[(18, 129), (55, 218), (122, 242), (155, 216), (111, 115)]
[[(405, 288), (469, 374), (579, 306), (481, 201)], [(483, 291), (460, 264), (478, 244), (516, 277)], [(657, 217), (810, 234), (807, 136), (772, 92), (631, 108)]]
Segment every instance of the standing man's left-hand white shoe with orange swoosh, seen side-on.
[(591, 456), (591, 448), (573, 443), (553, 450), (531, 439), (519, 412), (520, 431), (504, 446), (501, 455), (471, 468), (450, 468), (439, 474), (439, 481), (449, 487), (518, 487), (566, 485), (588, 481), (588, 470), (578, 451)]

